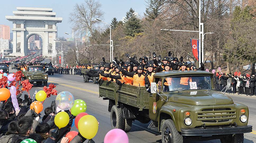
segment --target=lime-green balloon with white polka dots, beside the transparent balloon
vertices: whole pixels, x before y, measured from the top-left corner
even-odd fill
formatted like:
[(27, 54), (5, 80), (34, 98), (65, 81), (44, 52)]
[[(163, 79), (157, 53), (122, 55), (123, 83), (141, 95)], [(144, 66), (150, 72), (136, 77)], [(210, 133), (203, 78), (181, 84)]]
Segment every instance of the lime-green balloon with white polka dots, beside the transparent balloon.
[(86, 109), (86, 103), (81, 99), (76, 99), (73, 107), (71, 108), (71, 114), (77, 116), (79, 113), (85, 112)]

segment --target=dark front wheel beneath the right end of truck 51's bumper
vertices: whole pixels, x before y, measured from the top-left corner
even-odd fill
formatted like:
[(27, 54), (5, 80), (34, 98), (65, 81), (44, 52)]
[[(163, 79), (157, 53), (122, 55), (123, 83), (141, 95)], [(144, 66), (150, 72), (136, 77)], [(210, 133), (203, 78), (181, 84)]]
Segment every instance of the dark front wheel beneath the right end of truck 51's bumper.
[(221, 139), (221, 143), (243, 143), (244, 134), (226, 135)]

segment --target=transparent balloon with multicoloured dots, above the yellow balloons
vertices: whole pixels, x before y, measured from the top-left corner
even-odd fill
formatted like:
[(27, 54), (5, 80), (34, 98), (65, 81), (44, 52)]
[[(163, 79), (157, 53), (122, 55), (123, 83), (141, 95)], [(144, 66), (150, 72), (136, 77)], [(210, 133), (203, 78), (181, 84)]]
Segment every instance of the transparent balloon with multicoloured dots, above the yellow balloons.
[(69, 110), (74, 105), (74, 96), (68, 91), (62, 91), (56, 96), (56, 105), (62, 110)]

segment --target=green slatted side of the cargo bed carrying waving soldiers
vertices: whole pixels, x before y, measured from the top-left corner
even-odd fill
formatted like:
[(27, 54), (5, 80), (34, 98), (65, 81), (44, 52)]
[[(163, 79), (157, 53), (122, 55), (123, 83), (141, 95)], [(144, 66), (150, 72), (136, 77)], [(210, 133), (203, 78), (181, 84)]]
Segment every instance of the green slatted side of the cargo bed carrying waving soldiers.
[(99, 96), (142, 109), (149, 109), (149, 93), (145, 86), (117, 85), (111, 81), (100, 81)]

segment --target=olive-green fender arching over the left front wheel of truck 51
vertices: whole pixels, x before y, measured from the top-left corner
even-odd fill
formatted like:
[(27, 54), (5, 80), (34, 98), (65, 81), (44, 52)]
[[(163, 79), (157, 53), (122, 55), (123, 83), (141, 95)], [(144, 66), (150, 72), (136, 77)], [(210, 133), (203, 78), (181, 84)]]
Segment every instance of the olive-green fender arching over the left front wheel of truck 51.
[[(176, 110), (175, 113), (173, 111), (174, 109)], [(180, 131), (179, 117), (178, 117), (179, 110), (180, 110), (179, 107), (172, 106), (171, 104), (163, 105), (161, 107), (161, 109), (159, 111), (159, 115), (158, 115), (159, 116), (159, 118), (158, 118), (158, 131), (162, 130), (161, 129), (162, 123), (166, 119), (171, 119), (174, 122), (176, 129), (178, 131)]]

